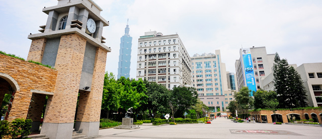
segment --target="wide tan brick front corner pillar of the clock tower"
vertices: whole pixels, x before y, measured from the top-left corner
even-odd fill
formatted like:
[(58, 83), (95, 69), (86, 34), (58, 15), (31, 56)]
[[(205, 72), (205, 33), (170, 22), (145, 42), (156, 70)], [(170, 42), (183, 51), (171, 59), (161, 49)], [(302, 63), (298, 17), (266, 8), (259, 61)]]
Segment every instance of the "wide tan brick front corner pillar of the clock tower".
[(74, 123), (85, 45), (86, 39), (77, 34), (61, 36), (55, 95), (48, 98), (44, 123)]

